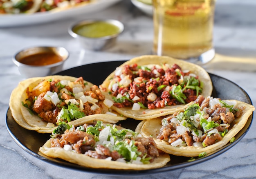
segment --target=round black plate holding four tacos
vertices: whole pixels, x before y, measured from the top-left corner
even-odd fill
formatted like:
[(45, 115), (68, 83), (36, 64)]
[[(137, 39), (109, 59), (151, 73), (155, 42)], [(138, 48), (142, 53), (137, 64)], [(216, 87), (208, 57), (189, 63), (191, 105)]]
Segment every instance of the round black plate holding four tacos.
[[(88, 65), (83, 65), (79, 67), (74, 67), (71, 69), (67, 69), (65, 71), (59, 72), (58, 75), (69, 75), (80, 77), (82, 76), (84, 80), (90, 81), (95, 85), (100, 85), (104, 79), (110, 74), (115, 68), (119, 65), (124, 63), (124, 61), (113, 61), (113, 62), (102, 62), (102, 63), (93, 63)], [(243, 101), (245, 103), (252, 104), (252, 101), (248, 94), (238, 85), (235, 83), (222, 78), (220, 76), (216, 76), (214, 74), (209, 74), (211, 76), (211, 80), (213, 82), (213, 93), (211, 96), (218, 97), (221, 99), (236, 99), (239, 101)], [(61, 160), (61, 159), (53, 159), (47, 156), (42, 157), (38, 154), (38, 150), (43, 144), (50, 138), (50, 134), (40, 134), (35, 131), (26, 130), (25, 128), (20, 127), (16, 121), (14, 121), (11, 111), (7, 111), (6, 115), (6, 125), (9, 134), (11, 135), (12, 139), (26, 152), (41, 159), (43, 161), (55, 164), (57, 166), (66, 167), (75, 170), (81, 170), (85, 172), (94, 172), (94, 173), (101, 173), (106, 175), (146, 175), (146, 174), (153, 174), (157, 172), (166, 172), (175, 170), (178, 168), (184, 168), (187, 166), (192, 166), (197, 163), (207, 161), (216, 157), (223, 152), (227, 151), (238, 141), (240, 141), (245, 134), (248, 132), (250, 125), (252, 123), (253, 114), (249, 117), (245, 127), (238, 132), (235, 136), (236, 140), (233, 143), (228, 143), (227, 145), (223, 146), (219, 150), (207, 155), (206, 157), (195, 159), (194, 161), (188, 161), (189, 157), (180, 157), (180, 156), (173, 156), (171, 155), (171, 161), (162, 168), (157, 168), (153, 170), (114, 170), (114, 169), (93, 169), (93, 168), (85, 168), (82, 166), (78, 166), (76, 164)], [(120, 122), (123, 127), (130, 128), (135, 130), (135, 127), (139, 123), (134, 119), (128, 119), (125, 121)]]

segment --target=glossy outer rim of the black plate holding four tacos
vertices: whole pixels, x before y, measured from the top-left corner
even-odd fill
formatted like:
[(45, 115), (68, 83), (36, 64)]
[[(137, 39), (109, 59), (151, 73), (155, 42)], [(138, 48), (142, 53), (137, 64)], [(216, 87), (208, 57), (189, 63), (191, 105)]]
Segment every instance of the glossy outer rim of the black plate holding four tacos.
[[(85, 65), (80, 65), (80, 66), (77, 66), (77, 67), (72, 67), (70, 69), (65, 69), (65, 70), (63, 70), (61, 72), (58, 72), (56, 74), (65, 73), (65, 72), (68, 72), (70, 70), (74, 70), (76, 68), (84, 67), (86, 65), (102, 64), (102, 63), (124, 63), (124, 62), (125, 62), (125, 60), (115, 60), (115, 61), (104, 61), (104, 62), (97, 62), (97, 63), (89, 63), (89, 64), (85, 64)], [(234, 82), (232, 82), (232, 81), (230, 81), (230, 80), (228, 80), (228, 79), (226, 79), (226, 78), (224, 78), (222, 76), (218, 76), (218, 75), (212, 74), (210, 72), (208, 72), (208, 74), (211, 76), (211, 78), (212, 78), (212, 76), (215, 76), (216, 78), (222, 78), (222, 80), (229, 81), (229, 83), (233, 83), (234, 85), (236, 85), (238, 88), (240, 88), (240, 90), (245, 95), (247, 95), (246, 97), (249, 99), (249, 102), (252, 105), (252, 99), (249, 97), (247, 92), (242, 87), (240, 87), (236, 83), (234, 83)], [(236, 145), (240, 140), (243, 139), (243, 137), (247, 134), (247, 132), (251, 128), (252, 121), (253, 121), (253, 115), (254, 115), (254, 113), (252, 113), (252, 115), (249, 117), (249, 119), (250, 119), (250, 120), (248, 120), (249, 124), (247, 124), (248, 126), (245, 129), (245, 132), (243, 134), (241, 134), (241, 136), (238, 139), (236, 139), (233, 143), (228, 143), (228, 144), (224, 145), (222, 148), (218, 149), (217, 151), (215, 151), (212, 154), (209, 154), (209, 155), (207, 155), (205, 157), (201, 157), (201, 158), (195, 159), (194, 161), (189, 161), (189, 162), (186, 161), (186, 162), (178, 163), (178, 164), (171, 165), (171, 166), (164, 166), (164, 167), (161, 167), (161, 168), (155, 168), (155, 169), (149, 169), (149, 170), (115, 170), (115, 169), (87, 168), (87, 167), (79, 166), (79, 165), (74, 164), (74, 163), (70, 163), (68, 161), (64, 161), (65, 164), (63, 164), (63, 163), (60, 163), (59, 161), (50, 160), (50, 159), (47, 159), (46, 157), (41, 156), (40, 154), (38, 154), (39, 153), (39, 149), (38, 149), (38, 153), (36, 153), (36, 152), (34, 152), (32, 150), (29, 150), (29, 148), (27, 148), (27, 146), (22, 144), (22, 142), (19, 141), (19, 139), (13, 134), (13, 132), (9, 128), (9, 123), (8, 123), (8, 119), (9, 119), (8, 115), (9, 115), (9, 113), (11, 113), (11, 111), (10, 111), (10, 109), (8, 107), (7, 113), (6, 113), (5, 125), (7, 127), (7, 131), (9, 133), (9, 135), (11, 136), (13, 141), (15, 141), (18, 146), (20, 146), (20, 148), (25, 150), (27, 153), (31, 154), (33, 157), (36, 157), (36, 158), (38, 158), (38, 159), (40, 159), (42, 161), (45, 161), (47, 163), (51, 163), (51, 164), (59, 166), (59, 167), (65, 167), (65, 168), (69, 168), (69, 169), (79, 170), (79, 171), (82, 171), (82, 172), (91, 172), (91, 173), (97, 173), (97, 174), (103, 174), (103, 175), (112, 175), (112, 176), (120, 176), (120, 175), (127, 175), (127, 174), (129, 174), (129, 175), (147, 175), (147, 174), (156, 174), (156, 173), (159, 173), (159, 172), (168, 172), (168, 171), (173, 171), (173, 170), (177, 170), (177, 169), (184, 168), (184, 167), (193, 166), (195, 164), (202, 163), (204, 161), (212, 159), (212, 158), (214, 158), (214, 157), (216, 157), (216, 156), (226, 152), (230, 148), (234, 147), (234, 145)], [(248, 123), (248, 121), (247, 121), (247, 123)], [(14, 121), (14, 122), (16, 123), (16, 121)], [(244, 128), (245, 127), (246, 127), (246, 125), (244, 126)], [(20, 128), (22, 128), (22, 127), (20, 126)], [(113, 172), (115, 172), (115, 173), (113, 173)]]

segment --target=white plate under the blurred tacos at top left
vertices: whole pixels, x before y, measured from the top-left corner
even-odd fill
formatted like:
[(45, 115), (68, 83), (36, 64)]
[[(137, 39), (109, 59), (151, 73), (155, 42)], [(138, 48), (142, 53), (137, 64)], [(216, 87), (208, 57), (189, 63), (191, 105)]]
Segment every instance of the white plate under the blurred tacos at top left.
[(97, 0), (82, 7), (73, 7), (58, 12), (37, 12), (33, 14), (4, 14), (0, 15), (0, 27), (14, 27), (23, 25), (51, 22), (67, 17), (89, 14), (106, 9), (121, 0)]

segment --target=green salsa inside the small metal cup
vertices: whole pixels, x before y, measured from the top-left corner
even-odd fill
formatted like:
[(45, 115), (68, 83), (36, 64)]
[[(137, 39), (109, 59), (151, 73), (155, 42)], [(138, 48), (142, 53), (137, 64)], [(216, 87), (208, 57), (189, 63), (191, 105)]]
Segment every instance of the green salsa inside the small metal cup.
[(110, 36), (119, 32), (119, 27), (108, 22), (93, 22), (90, 24), (74, 27), (73, 31), (80, 36), (99, 38)]

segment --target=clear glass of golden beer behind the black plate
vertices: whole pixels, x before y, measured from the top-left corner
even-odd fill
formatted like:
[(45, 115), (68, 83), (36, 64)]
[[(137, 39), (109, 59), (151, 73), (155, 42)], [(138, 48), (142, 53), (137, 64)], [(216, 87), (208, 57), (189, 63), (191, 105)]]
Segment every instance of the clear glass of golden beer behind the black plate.
[(153, 0), (153, 53), (195, 63), (214, 55), (215, 0)]

